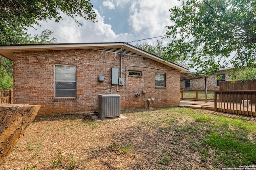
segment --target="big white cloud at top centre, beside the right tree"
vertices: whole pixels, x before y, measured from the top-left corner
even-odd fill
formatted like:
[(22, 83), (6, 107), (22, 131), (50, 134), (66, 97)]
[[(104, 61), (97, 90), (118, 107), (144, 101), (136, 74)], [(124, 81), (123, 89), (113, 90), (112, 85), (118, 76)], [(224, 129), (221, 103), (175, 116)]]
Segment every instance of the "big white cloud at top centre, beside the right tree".
[(170, 0), (140, 0), (130, 6), (129, 25), (137, 34), (150, 37), (165, 35), (166, 25), (170, 25), (170, 8), (180, 2)]

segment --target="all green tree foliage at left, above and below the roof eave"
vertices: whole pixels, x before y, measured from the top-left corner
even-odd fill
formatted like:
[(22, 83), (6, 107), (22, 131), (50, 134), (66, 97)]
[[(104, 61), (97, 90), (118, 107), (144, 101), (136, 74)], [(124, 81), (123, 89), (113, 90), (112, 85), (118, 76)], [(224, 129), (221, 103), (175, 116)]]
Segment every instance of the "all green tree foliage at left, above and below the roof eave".
[[(26, 27), (39, 25), (39, 21), (62, 20), (61, 14), (95, 21), (96, 13), (89, 0), (1, 0), (0, 1), (0, 45), (56, 43), (50, 39), (50, 30), (33, 37)], [(0, 87), (12, 87), (12, 61), (0, 56)]]

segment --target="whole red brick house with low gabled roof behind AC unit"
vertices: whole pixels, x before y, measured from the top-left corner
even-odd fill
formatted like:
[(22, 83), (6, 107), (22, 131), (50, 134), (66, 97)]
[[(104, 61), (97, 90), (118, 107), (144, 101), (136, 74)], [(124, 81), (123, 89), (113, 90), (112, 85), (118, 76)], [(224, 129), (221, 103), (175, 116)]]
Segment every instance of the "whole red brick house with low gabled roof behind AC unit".
[(127, 43), (2, 45), (13, 61), (13, 103), (38, 115), (98, 110), (98, 94), (120, 94), (121, 109), (178, 106), (180, 72)]

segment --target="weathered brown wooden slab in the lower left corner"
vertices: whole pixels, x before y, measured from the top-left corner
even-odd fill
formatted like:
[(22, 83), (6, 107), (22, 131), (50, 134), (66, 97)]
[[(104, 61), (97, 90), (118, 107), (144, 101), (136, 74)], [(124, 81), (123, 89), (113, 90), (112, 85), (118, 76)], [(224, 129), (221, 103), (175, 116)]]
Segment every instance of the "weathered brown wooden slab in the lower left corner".
[(0, 104), (0, 166), (20, 136), (36, 117), (41, 106)]

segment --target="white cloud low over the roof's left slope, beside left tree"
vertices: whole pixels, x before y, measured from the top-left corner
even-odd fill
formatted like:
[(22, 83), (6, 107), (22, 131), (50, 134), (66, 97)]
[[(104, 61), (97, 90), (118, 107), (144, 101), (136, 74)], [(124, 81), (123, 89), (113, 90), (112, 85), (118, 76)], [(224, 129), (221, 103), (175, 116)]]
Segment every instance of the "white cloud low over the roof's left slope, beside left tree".
[(104, 23), (104, 16), (100, 16), (98, 10), (94, 9), (94, 11), (98, 21), (95, 23), (77, 18), (82, 23), (82, 26), (79, 27), (72, 18), (62, 15), (63, 20), (60, 23), (56, 23), (54, 20), (40, 21), (41, 27), (38, 27), (37, 30), (29, 28), (28, 32), (34, 35), (40, 34), (44, 29), (50, 29), (54, 32), (52, 37), (56, 37), (58, 43), (126, 42), (132, 40), (133, 35), (131, 33), (116, 35), (112, 26)]

